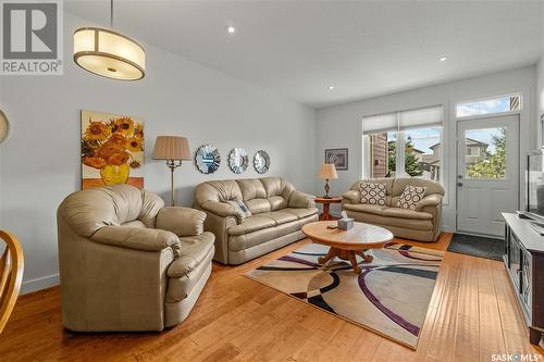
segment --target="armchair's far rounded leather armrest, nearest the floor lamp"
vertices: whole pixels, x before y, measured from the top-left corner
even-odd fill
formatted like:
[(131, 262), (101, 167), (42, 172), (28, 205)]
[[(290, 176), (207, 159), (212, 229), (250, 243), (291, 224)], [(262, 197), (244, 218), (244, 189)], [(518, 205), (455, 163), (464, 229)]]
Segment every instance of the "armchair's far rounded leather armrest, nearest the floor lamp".
[(172, 232), (177, 236), (194, 236), (203, 233), (206, 212), (189, 208), (162, 208), (157, 214), (154, 227)]

